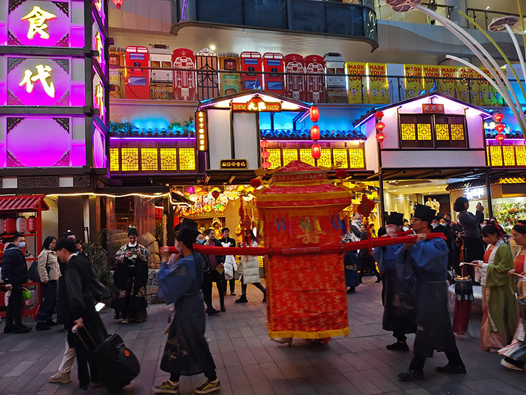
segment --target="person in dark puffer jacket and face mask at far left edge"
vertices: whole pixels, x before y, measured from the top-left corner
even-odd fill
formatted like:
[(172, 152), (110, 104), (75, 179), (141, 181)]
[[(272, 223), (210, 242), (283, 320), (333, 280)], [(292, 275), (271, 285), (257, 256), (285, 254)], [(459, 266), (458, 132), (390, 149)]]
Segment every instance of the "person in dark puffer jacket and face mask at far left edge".
[(27, 281), (27, 264), (22, 250), (25, 247), (25, 237), (18, 234), (13, 237), (13, 243), (4, 250), (2, 257), (2, 280), (6, 289), (11, 291), (6, 309), (6, 327), (4, 333), (28, 333), (31, 328), (22, 324), (22, 284)]

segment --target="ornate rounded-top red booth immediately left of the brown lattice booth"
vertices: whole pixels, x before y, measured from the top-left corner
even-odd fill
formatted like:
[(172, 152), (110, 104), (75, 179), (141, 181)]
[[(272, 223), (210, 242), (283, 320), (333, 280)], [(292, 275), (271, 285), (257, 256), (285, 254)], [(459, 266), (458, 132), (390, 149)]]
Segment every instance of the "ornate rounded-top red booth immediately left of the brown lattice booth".
[[(195, 69), (196, 57), (194, 51), (188, 48), (177, 48), (172, 53), (174, 69)], [(196, 72), (175, 71), (173, 79), (174, 100), (195, 102), (197, 100)]]

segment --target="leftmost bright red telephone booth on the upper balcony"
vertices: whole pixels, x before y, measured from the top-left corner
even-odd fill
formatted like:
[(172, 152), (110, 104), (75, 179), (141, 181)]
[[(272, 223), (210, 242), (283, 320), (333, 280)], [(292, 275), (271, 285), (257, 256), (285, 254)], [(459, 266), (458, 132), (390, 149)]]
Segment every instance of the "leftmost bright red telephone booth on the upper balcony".
[[(144, 68), (143, 68), (144, 67)], [(149, 52), (145, 46), (126, 47), (126, 99), (150, 98)]]

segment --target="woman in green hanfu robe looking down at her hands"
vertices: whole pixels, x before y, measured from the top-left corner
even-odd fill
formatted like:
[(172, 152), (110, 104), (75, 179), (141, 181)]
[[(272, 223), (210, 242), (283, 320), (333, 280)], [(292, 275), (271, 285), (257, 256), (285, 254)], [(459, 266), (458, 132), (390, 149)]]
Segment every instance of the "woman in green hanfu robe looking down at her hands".
[(513, 269), (513, 257), (504, 243), (501, 229), (494, 224), (482, 229), (487, 243), (484, 261), (474, 260), (476, 280), (483, 286), (483, 319), (480, 326), (480, 348), (497, 352), (510, 344), (517, 326), (517, 301), (508, 272)]

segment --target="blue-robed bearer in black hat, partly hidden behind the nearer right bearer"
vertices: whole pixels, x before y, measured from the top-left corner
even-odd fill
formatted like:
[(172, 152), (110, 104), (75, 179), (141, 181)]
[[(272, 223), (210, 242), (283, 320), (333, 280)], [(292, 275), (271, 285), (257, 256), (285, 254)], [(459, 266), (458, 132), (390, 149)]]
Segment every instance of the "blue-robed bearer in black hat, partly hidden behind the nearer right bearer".
[[(403, 214), (393, 211), (386, 221), (387, 234), (383, 237), (393, 237), (396, 233), (403, 232)], [(377, 247), (372, 255), (378, 262), (382, 272), (382, 303), (384, 304), (384, 318), (382, 328), (392, 330), (396, 342), (386, 345), (392, 351), (409, 351), (406, 333), (417, 331), (417, 319), (414, 314), (412, 293), (403, 292), (398, 287), (396, 276), (395, 253), (402, 244), (393, 246)]]

